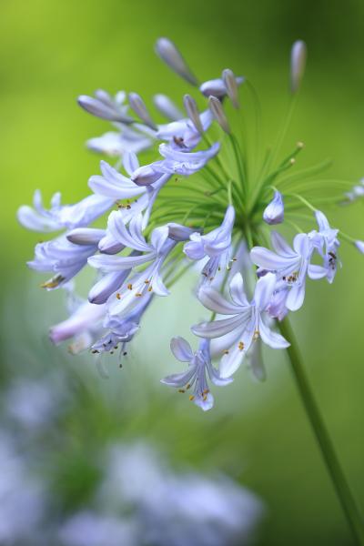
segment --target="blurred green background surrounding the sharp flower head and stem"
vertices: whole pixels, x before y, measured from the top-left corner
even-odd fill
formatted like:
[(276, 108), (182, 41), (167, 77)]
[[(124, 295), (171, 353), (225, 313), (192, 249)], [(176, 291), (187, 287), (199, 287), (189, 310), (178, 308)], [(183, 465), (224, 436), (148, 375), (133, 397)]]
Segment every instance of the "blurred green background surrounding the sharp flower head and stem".
[[(355, 183), (364, 174), (363, 21), (359, 0), (2, 0), (0, 5), (3, 382), (13, 374), (38, 377), (47, 367), (62, 366), (84, 396), (80, 406), (86, 404), (84, 411), (71, 412), (72, 440), (64, 446), (65, 459), (76, 469), (92, 465), (97, 445), (107, 438), (146, 434), (176, 462), (227, 472), (256, 491), (268, 508), (259, 544), (269, 546), (351, 543), (283, 353), (267, 353), (263, 384), (239, 370), (232, 387), (218, 390), (216, 408), (207, 414), (159, 385), (172, 368), (168, 340), (177, 333), (188, 336), (201, 313), (187, 298), (189, 278), (150, 309), (130, 365), (101, 379), (91, 357), (71, 359), (66, 350), (48, 347), (47, 325), (63, 319), (65, 311), (57, 294), (39, 289), (29, 296), (39, 278), (25, 260), (37, 236), (17, 225), (15, 211), (30, 203), (35, 187), (45, 198), (61, 189), (65, 202), (86, 195), (99, 157), (84, 143), (108, 127), (81, 111), (76, 96), (102, 87), (136, 90), (146, 99), (164, 92), (179, 100), (188, 91), (155, 56), (159, 35), (176, 41), (202, 80), (227, 66), (248, 76), (258, 89), (268, 142), (287, 107), (290, 45), (306, 40), (308, 69), (286, 146), (302, 140), (300, 165), (332, 157), (334, 177)], [(364, 238), (362, 204), (330, 217), (335, 226)], [(294, 326), (339, 458), (364, 506), (364, 261), (347, 246), (340, 256), (343, 268), (335, 284), (310, 283)], [(83, 490), (76, 486), (77, 475), (66, 471), (59, 494), (69, 490), (70, 499), (82, 502), (83, 493), (75, 492)]]

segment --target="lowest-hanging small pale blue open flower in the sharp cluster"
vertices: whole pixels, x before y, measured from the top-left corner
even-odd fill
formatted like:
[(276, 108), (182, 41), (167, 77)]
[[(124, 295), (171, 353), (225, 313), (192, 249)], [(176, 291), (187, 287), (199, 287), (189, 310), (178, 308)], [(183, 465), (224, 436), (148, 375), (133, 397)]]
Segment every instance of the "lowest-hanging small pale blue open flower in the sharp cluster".
[(180, 337), (173, 338), (170, 347), (177, 360), (188, 362), (188, 369), (182, 373), (167, 376), (162, 379), (162, 383), (183, 392), (193, 389), (189, 399), (202, 410), (211, 410), (214, 398), (208, 388), (207, 378), (219, 387), (231, 383), (232, 379), (221, 378), (217, 369), (211, 364), (209, 340), (201, 339), (195, 353), (186, 339)]

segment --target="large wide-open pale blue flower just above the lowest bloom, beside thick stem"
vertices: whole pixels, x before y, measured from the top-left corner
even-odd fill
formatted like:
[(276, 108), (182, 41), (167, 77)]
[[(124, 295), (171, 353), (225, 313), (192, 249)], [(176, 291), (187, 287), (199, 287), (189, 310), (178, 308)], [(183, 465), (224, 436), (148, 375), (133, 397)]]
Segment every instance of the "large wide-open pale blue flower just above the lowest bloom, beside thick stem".
[(218, 315), (229, 316), (228, 319), (202, 322), (192, 327), (193, 333), (201, 338), (225, 337), (225, 349), (219, 368), (222, 378), (230, 377), (238, 369), (252, 343), (259, 338), (273, 349), (288, 347), (288, 341), (272, 331), (263, 319), (267, 317), (266, 309), (275, 288), (276, 276), (271, 273), (258, 279), (254, 297), (250, 302), (239, 273), (229, 285), (231, 301), (214, 288), (207, 286), (200, 288), (198, 299), (206, 308)]

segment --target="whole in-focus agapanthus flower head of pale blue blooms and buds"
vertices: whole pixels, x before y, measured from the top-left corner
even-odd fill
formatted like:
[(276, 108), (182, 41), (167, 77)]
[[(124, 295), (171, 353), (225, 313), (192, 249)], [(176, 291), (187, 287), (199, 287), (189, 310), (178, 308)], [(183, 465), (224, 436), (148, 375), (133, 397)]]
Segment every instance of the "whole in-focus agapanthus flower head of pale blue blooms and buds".
[[(132, 89), (116, 96), (101, 89), (79, 96), (86, 112), (111, 124), (86, 143), (105, 156), (101, 172), (88, 180), (92, 194), (63, 205), (57, 193), (46, 209), (36, 190), (33, 207), (20, 207), (18, 219), (33, 231), (61, 232), (38, 243), (28, 262), (53, 275), (43, 286), (67, 293), (75, 285), (88, 294), (88, 301), (78, 301), (50, 332), (55, 343), (74, 339), (73, 352), (113, 353), (121, 347), (123, 354), (144, 325), (146, 309), (157, 301), (154, 296), (168, 296), (188, 269), (198, 269), (195, 294), (212, 316), (192, 328), (201, 339), (197, 351), (181, 337), (172, 339), (172, 352), (188, 367), (163, 382), (193, 389), (192, 399), (207, 410), (213, 403), (207, 380), (230, 382), (247, 353), (256, 378), (265, 379), (261, 346), (288, 347), (276, 331), (285, 330), (285, 322), (278, 321), (302, 307), (308, 278), (333, 282), (343, 240), (364, 254), (360, 238), (330, 227), (327, 211), (318, 209), (322, 203), (354, 203), (364, 196), (364, 186), (362, 180), (333, 185), (320, 179), (322, 164), (293, 176), (288, 172), (304, 149), (301, 142), (292, 143), (291, 152), (282, 155), (306, 68), (304, 42), (291, 49), (295, 100), (268, 152), (260, 142), (263, 132), (250, 127), (246, 115), (252, 101), (257, 106), (255, 91), (244, 95), (240, 107), (243, 92), (253, 90), (250, 82), (228, 67), (215, 78), (197, 79), (166, 37), (157, 40), (156, 52), (191, 85), (190, 94), (181, 90), (176, 103), (162, 93), (149, 101)], [(271, 230), (275, 225), (282, 225), (292, 246)], [(93, 280), (85, 287), (87, 276), (78, 273), (86, 267)], [(156, 332), (159, 344), (163, 339)]]

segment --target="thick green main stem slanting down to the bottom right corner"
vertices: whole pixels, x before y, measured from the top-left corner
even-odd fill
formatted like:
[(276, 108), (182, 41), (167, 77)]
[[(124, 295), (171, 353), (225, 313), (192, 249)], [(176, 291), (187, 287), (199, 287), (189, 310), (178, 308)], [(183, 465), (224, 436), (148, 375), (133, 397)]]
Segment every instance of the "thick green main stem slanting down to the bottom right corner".
[(349, 489), (344, 472), (339, 464), (338, 457), (329, 437), (329, 432), (320, 415), (316, 399), (314, 398), (312, 390), (309, 387), (308, 378), (303, 368), (297, 341), (288, 319), (284, 319), (279, 323), (279, 329), (282, 332), (282, 335), (290, 343), (287, 350), (293, 375), (296, 379), (298, 391), (308, 415), (308, 420), (311, 423), (316, 440), (318, 440), (322, 457), (325, 460), (330, 478), (339, 497), (342, 510), (344, 511), (349, 522), (355, 543), (362, 546), (364, 544), (364, 521), (362, 520), (359, 509)]

